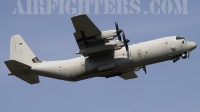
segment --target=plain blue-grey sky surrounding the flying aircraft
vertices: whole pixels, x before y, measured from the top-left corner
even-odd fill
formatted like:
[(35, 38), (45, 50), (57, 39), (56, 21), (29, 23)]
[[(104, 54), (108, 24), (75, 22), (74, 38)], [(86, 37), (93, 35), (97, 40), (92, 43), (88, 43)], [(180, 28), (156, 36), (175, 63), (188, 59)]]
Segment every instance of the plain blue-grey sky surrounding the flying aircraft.
[[(32, 1), (31, 5), (27, 1)], [(199, 46), (199, 0), (180, 0), (182, 9), (177, 0), (168, 0), (166, 3), (165, 0), (158, 0), (160, 3), (135, 0), (127, 5), (124, 2), (121, 8), (116, 0), (115, 5), (103, 1), (99, 9), (94, 3), (90, 3), (89, 9), (83, 5), (84, 10), (81, 10), (80, 0), (75, 0), (76, 3), (63, 0), (64, 6), (60, 2), (62, 0), (58, 1), (60, 6), (55, 5), (53, 0), (43, 0), (44, 5), (40, 8), (34, 6), (38, 0), (27, 1), (0, 1), (0, 112), (200, 111), (199, 47), (191, 52), (190, 59), (181, 59), (175, 64), (167, 61), (149, 65), (148, 74), (145, 75), (141, 70), (136, 72), (137, 79), (127, 81), (113, 77), (67, 82), (40, 77), (39, 84), (29, 85), (14, 76), (8, 76), (9, 70), (4, 64), (9, 60), (10, 38), (15, 34), (20, 34), (42, 61), (79, 57), (75, 54), (79, 49), (70, 18), (81, 11), (90, 13), (88, 16), (100, 30), (115, 29), (114, 21), (118, 22), (131, 40), (129, 44), (181, 35)], [(49, 1), (52, 2), (50, 9)], [(113, 13), (113, 7), (116, 10), (110, 14)], [(77, 10), (72, 14), (68, 8)], [(154, 14), (159, 9), (160, 14)], [(118, 14), (120, 10), (121, 14)], [(130, 10), (134, 14), (130, 14)], [(177, 14), (174, 14), (175, 10)], [(38, 14), (33, 14), (34, 11)], [(23, 12), (25, 14), (20, 14)]]

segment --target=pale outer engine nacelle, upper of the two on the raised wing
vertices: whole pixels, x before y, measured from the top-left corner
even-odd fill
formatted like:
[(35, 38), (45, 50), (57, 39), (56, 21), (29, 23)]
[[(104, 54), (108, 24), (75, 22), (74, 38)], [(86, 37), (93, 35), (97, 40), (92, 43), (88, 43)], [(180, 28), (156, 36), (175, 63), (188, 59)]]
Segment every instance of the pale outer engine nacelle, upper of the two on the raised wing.
[(97, 40), (112, 40), (117, 36), (116, 30), (107, 30), (102, 31), (100, 35), (97, 35), (95, 38)]

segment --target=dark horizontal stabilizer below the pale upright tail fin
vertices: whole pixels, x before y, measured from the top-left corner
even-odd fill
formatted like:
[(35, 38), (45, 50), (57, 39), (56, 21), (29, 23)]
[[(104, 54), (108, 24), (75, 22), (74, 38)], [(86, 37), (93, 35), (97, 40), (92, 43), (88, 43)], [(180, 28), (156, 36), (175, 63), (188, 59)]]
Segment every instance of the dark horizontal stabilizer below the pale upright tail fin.
[(39, 83), (38, 75), (30, 73), (30, 66), (15, 60), (5, 61), (5, 64), (11, 72), (10, 75), (15, 75), (29, 84)]

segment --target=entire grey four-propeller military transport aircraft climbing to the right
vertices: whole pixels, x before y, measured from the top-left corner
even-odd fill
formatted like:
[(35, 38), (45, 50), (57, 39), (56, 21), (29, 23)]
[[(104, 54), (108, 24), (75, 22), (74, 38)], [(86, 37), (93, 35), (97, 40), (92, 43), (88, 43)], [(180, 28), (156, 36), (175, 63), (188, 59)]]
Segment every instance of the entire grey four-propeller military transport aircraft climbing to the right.
[[(128, 46), (124, 31), (116, 29), (100, 31), (87, 15), (71, 18), (76, 32), (74, 37), (81, 57), (41, 62), (28, 47), (20, 35), (14, 35), (10, 43), (10, 60), (5, 61), (9, 75), (28, 82), (39, 83), (39, 77), (45, 76), (66, 81), (80, 81), (92, 77), (110, 78), (119, 76), (125, 80), (137, 78), (135, 71), (146, 65), (180, 58), (189, 58), (196, 43), (182, 36), (169, 36)], [(118, 39), (113, 40), (115, 37)]]

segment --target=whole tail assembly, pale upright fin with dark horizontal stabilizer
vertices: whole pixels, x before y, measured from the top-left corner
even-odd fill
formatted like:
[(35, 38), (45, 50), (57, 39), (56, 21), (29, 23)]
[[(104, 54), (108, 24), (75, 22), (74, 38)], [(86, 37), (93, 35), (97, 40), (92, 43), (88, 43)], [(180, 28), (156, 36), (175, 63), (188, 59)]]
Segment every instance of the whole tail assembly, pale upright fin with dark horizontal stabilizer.
[(33, 63), (40, 62), (20, 35), (14, 35), (10, 41), (10, 60), (5, 61), (10, 70), (10, 75), (28, 82), (39, 83), (37, 74), (31, 73)]

